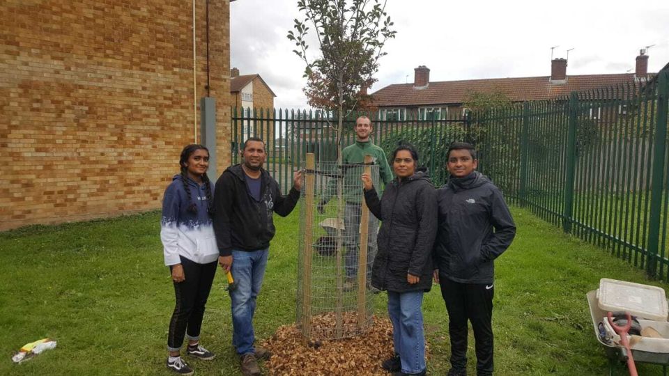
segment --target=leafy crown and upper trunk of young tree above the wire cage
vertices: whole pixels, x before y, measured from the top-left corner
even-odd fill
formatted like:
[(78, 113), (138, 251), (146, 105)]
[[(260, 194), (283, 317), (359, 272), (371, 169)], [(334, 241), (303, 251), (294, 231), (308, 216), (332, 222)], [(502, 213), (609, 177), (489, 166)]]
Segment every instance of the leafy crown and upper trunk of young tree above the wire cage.
[[(294, 31), (288, 32), (289, 40), (297, 46), (293, 52), (306, 64), (304, 91), (309, 104), (337, 113), (334, 130), (340, 163), (344, 118), (360, 102), (369, 102), (366, 92), (376, 81), (379, 58), (386, 54), (383, 46), (397, 33), (385, 13), (386, 1), (298, 0), (305, 18), (295, 19)], [(314, 59), (307, 56), (307, 36), (312, 27), (321, 50)]]

